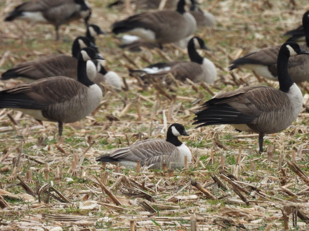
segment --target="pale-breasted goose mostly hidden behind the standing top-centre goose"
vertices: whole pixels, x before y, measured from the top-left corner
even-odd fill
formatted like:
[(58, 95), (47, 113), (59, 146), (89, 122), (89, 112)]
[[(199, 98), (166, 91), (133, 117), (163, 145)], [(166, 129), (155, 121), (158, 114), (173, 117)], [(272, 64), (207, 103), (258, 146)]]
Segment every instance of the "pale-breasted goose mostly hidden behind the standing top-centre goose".
[(190, 14), (195, 18), (198, 27), (214, 27), (215, 19), (214, 15), (209, 12), (203, 12), (196, 4), (190, 6)]

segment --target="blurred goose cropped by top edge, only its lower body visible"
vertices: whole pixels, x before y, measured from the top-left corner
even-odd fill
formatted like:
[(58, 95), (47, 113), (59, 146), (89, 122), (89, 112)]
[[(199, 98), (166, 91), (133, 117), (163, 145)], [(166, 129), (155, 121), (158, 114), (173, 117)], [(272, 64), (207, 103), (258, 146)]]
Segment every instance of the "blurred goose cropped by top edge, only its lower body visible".
[[(144, 8), (144, 9), (158, 9), (161, 0), (131, 0), (131, 3), (136, 4), (136, 8)], [(175, 8), (177, 6), (178, 0), (167, 0), (165, 2), (164, 8)], [(125, 4), (124, 0), (118, 0), (108, 4), (108, 8), (112, 6), (122, 6)]]

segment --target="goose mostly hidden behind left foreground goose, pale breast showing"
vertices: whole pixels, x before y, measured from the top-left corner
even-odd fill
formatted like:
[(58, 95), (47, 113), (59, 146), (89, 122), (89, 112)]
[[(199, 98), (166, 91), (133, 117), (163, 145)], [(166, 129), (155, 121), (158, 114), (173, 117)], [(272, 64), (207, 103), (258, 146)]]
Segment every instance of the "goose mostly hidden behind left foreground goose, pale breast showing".
[[(95, 67), (96, 67), (96, 71), (98, 72), (98, 74), (92, 74), (92, 76), (89, 79), (91, 79), (94, 83), (98, 84), (101, 82), (105, 82), (107, 83), (109, 86), (120, 90), (122, 89), (122, 80), (120, 78), (120, 76), (114, 72), (114, 71), (106, 71), (106, 69), (102, 66), (101, 62), (99, 62), (99, 60), (91, 60), (88, 62), (93, 62)], [(87, 63), (88, 64), (88, 63)], [(90, 67), (91, 68), (91, 67)], [(87, 71), (87, 75), (89, 76), (91, 71)]]

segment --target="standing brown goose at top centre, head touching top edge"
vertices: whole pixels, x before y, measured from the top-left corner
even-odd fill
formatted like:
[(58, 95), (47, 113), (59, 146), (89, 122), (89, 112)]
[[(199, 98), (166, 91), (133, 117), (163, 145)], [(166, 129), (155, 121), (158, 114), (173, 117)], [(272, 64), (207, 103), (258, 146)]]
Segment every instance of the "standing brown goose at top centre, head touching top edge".
[(137, 35), (147, 42), (159, 43), (162, 48), (163, 43), (176, 42), (196, 30), (194, 17), (184, 10), (187, 2), (179, 0), (176, 10), (157, 10), (130, 16), (112, 24), (112, 32)]

